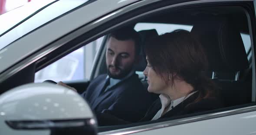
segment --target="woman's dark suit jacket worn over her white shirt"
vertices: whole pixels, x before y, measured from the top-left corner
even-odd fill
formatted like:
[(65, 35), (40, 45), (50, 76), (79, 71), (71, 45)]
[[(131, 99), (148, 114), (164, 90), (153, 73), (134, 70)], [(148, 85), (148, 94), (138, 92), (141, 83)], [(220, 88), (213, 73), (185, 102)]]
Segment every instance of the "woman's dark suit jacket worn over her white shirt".
[[(161, 116), (159, 119), (163, 118), (171, 118), (174, 116), (181, 116), (191, 113), (199, 113), (203, 111), (209, 111), (212, 109), (219, 109), (223, 107), (220, 100), (217, 98), (207, 98), (198, 101), (197, 103), (192, 103), (194, 100), (196, 100), (198, 96), (198, 92), (194, 93), (190, 97), (188, 97), (186, 100), (184, 100), (182, 103), (175, 106), (173, 109), (165, 113), (163, 116)], [(138, 122), (145, 122), (145, 121), (151, 121), (153, 117), (156, 115), (156, 113), (161, 109), (161, 100), (160, 98), (156, 100), (151, 107), (148, 109), (147, 113), (144, 115), (142, 119), (140, 119)], [(115, 116), (111, 116), (109, 114), (101, 114), (98, 116), (98, 124), (99, 125), (123, 125), (123, 124), (129, 124), (131, 122), (127, 122), (123, 119), (117, 118)]]

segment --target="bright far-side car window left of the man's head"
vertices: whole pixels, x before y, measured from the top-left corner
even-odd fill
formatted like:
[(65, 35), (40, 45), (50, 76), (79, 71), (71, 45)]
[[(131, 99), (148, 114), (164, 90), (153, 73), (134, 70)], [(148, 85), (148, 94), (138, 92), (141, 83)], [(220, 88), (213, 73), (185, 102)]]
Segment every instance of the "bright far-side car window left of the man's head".
[(102, 39), (103, 37), (98, 38), (36, 72), (35, 82), (89, 80), (95, 54), (102, 43)]

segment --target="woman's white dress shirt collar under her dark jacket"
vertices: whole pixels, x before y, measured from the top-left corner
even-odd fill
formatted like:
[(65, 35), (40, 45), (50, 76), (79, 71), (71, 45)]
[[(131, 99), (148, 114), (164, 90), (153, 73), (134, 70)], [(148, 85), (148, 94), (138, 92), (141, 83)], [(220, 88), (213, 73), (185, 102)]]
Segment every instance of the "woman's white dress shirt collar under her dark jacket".
[(165, 94), (160, 94), (159, 97), (161, 100), (162, 107), (158, 111), (158, 113), (156, 113), (156, 115), (153, 117), (153, 119), (151, 119), (151, 120), (159, 119), (165, 113), (167, 113), (168, 111), (173, 109), (175, 106), (180, 104), (182, 101), (186, 100), (189, 96), (193, 95), (194, 93), (196, 93), (196, 92), (190, 93), (187, 96), (183, 96), (177, 100), (171, 100), (169, 96), (167, 96)]

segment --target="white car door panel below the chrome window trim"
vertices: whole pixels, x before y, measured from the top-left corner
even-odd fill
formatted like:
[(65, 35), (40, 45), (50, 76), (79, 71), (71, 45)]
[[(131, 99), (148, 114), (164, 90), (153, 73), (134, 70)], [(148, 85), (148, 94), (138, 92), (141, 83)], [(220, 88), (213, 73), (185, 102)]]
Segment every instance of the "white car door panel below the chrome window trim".
[(255, 122), (256, 112), (249, 112), (165, 128), (160, 126), (159, 129), (131, 133), (130, 135), (255, 135)]

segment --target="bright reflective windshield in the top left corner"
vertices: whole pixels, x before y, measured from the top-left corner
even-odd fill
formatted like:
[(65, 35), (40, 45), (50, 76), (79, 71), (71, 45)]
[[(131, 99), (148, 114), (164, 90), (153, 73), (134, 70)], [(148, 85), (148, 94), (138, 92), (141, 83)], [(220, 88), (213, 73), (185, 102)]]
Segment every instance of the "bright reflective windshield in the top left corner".
[(40, 0), (4, 13), (0, 16), (0, 50), (23, 35), (87, 1)]

